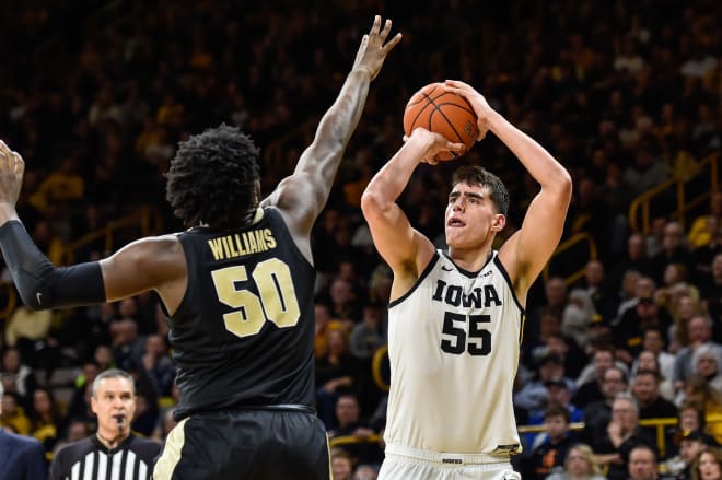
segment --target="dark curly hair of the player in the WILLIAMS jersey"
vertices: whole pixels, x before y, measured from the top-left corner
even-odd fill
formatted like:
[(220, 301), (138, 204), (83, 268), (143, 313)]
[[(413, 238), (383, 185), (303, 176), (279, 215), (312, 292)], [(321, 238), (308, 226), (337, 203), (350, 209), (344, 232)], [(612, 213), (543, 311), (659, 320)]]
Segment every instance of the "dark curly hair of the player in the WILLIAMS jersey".
[(236, 127), (222, 124), (178, 143), (165, 198), (186, 226), (242, 226), (259, 200), (260, 151)]

